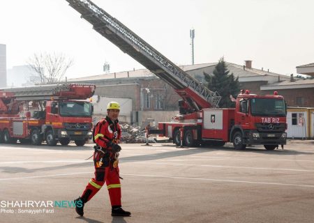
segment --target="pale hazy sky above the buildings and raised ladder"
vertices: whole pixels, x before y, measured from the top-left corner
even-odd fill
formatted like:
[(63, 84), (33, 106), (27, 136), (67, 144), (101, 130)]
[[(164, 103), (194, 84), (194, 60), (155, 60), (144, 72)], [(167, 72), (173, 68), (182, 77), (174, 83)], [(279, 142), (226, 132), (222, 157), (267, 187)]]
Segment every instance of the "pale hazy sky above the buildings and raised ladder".
[[(253, 68), (284, 75), (314, 63), (311, 0), (94, 0), (168, 59), (190, 64), (253, 60)], [(26, 64), (35, 52), (62, 52), (74, 60), (66, 76), (83, 77), (143, 68), (100, 36), (65, 0), (0, 0), (0, 43), (7, 68)]]

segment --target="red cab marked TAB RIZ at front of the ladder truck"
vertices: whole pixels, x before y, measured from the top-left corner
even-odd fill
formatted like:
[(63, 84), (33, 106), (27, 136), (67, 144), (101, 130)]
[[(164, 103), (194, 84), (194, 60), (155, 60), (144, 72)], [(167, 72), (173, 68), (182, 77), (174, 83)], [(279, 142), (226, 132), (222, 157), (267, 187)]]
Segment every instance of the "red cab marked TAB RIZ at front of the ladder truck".
[(246, 90), (237, 97), (230, 139), (235, 148), (262, 144), (268, 150), (286, 144), (286, 105), (283, 96), (255, 95)]

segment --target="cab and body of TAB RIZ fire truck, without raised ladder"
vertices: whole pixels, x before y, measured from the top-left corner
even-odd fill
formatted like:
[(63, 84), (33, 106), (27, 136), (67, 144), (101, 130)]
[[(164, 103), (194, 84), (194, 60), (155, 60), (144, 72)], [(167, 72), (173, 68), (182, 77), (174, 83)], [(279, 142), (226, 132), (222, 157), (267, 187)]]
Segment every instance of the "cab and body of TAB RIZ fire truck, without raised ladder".
[[(174, 144), (198, 146), (224, 146), (232, 142), (234, 148), (244, 149), (246, 145), (264, 145), (274, 150), (285, 145), (286, 109), (283, 96), (255, 95), (248, 90), (238, 95), (235, 109), (200, 109), (197, 112), (181, 114), (172, 122), (159, 123), (163, 136), (173, 139)], [(180, 137), (183, 131), (183, 136)]]

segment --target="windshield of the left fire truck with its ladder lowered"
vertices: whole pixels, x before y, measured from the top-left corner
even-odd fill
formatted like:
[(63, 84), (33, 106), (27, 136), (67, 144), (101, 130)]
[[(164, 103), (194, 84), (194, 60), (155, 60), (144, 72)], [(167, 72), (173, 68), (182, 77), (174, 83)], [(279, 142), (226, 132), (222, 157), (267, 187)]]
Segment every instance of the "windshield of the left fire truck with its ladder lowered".
[(59, 107), (61, 116), (91, 116), (91, 103), (89, 102), (60, 102)]

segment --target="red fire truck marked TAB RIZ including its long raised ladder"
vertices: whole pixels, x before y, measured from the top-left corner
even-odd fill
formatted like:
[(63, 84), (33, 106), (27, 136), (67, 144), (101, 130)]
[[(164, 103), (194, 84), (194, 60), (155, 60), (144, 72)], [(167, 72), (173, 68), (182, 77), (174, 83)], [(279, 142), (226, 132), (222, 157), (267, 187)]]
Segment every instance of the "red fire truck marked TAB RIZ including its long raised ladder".
[(158, 123), (160, 136), (174, 144), (223, 146), (232, 142), (237, 149), (260, 144), (267, 150), (286, 144), (286, 109), (283, 96), (255, 95), (242, 91), (235, 109), (218, 108), (220, 95), (210, 91), (181, 70), (154, 47), (142, 40), (116, 18), (89, 0), (66, 0), (100, 35), (117, 45), (170, 84), (182, 98), (179, 113), (171, 122)]

